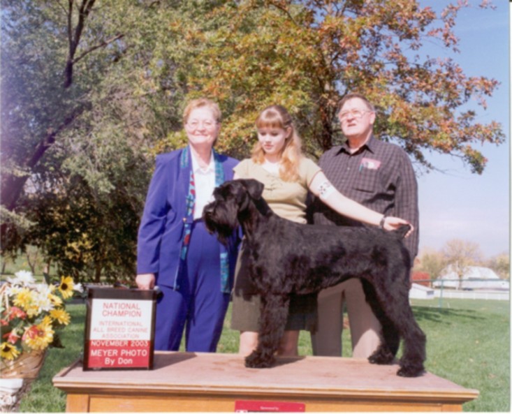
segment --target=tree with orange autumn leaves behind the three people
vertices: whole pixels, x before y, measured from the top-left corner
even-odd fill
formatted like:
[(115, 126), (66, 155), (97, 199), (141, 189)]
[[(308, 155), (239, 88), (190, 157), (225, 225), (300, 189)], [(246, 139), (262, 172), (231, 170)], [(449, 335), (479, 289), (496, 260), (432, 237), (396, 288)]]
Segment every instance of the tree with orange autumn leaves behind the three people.
[(379, 109), (381, 139), (426, 168), (423, 151), (433, 149), (480, 173), (486, 160), (473, 145), (504, 139), (496, 122), (476, 122), (475, 108), (486, 108), (497, 81), (468, 77), (455, 60), (422, 52), (426, 42), (457, 52), (453, 27), (463, 6), (437, 15), (410, 0), (252, 0), (213, 7), (205, 15), (210, 27), (191, 29), (189, 20), (173, 27), (197, 53), (189, 94), (212, 96), (227, 110), (226, 151), (247, 152), (258, 110), (281, 103), (318, 156), (340, 138), (337, 102), (358, 91)]

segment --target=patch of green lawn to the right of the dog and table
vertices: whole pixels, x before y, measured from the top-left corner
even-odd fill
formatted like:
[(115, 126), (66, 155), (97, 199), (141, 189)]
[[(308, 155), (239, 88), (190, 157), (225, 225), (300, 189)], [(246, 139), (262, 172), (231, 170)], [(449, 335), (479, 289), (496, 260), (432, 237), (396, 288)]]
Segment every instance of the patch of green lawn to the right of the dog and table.
[(480, 391), (464, 411), (509, 412), (510, 303), (444, 300), (438, 309), (432, 301), (414, 300), (413, 305), (427, 334), (427, 370)]

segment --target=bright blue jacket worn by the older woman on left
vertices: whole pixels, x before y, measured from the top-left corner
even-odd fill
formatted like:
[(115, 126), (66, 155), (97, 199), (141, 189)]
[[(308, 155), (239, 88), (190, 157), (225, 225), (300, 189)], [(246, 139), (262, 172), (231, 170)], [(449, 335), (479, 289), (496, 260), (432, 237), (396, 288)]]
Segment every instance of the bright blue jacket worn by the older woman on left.
[[(137, 244), (137, 273), (154, 273), (156, 284), (179, 290), (182, 272), (180, 252), (184, 241), (184, 227), (187, 220), (186, 197), (189, 193), (191, 160), (184, 166), (180, 162), (185, 149), (177, 149), (156, 156), (156, 168), (149, 184), (147, 198), (140, 222)], [(228, 156), (218, 157), (224, 169), (224, 180), (233, 179), (233, 168), (238, 161)], [(237, 232), (228, 246), (221, 252), (228, 258), (228, 281), (221, 286), (219, 269), (219, 288), (231, 290), (237, 258), (239, 237)]]

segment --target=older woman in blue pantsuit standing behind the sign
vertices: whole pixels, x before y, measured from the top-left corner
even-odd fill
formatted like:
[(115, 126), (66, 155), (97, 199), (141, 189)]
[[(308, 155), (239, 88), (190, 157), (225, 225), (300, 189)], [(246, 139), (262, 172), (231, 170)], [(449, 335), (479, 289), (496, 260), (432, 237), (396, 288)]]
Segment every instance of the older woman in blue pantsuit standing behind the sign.
[(189, 145), (156, 157), (138, 234), (140, 289), (159, 286), (156, 350), (215, 352), (229, 304), (237, 237), (219, 244), (201, 220), (216, 186), (233, 178), (238, 161), (212, 148), (221, 112), (205, 98), (184, 110)]

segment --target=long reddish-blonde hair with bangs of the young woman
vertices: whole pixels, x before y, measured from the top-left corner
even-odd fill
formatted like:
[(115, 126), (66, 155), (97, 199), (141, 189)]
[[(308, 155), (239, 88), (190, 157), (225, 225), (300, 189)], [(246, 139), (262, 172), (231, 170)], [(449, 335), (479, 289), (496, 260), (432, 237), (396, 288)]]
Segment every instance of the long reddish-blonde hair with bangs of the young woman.
[[(291, 128), (291, 133), (286, 137), (281, 151), (279, 177), (287, 182), (297, 181), (299, 178), (299, 164), (302, 158), (300, 137), (293, 125), (291, 115), (281, 105), (270, 105), (260, 112), (256, 119), (256, 128)], [(263, 164), (265, 151), (258, 141), (252, 150), (252, 161)]]

